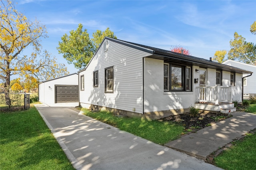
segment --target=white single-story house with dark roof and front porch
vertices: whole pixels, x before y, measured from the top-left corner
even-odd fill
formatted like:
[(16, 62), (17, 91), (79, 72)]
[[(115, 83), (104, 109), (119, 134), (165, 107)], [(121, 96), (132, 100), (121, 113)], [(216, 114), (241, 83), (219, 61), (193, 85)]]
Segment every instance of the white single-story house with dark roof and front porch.
[(105, 37), (78, 72), (80, 106), (120, 115), (159, 118), (190, 106), (220, 111), (242, 101), (250, 71)]

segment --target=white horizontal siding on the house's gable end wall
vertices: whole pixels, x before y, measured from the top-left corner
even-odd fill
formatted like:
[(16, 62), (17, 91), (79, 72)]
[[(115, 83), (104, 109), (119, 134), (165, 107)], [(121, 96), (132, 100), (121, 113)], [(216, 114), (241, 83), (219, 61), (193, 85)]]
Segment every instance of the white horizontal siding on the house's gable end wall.
[[(86, 70), (85, 91), (80, 91), (80, 102), (143, 113), (143, 57), (151, 55), (113, 41), (108, 41), (108, 51), (98, 49)], [(113, 66), (113, 93), (105, 93), (105, 68)], [(98, 70), (98, 88), (93, 88), (93, 72)], [(84, 106), (85, 106), (84, 105)]]

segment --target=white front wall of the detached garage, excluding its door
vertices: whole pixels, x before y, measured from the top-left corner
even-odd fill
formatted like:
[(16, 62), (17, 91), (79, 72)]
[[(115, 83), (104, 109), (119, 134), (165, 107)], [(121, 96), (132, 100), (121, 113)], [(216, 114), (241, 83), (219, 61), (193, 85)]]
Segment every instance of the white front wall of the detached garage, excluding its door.
[[(39, 102), (48, 106), (78, 106), (78, 102), (74, 103), (55, 103), (55, 86), (56, 85), (78, 85), (78, 74), (69, 74), (60, 78), (47, 80), (39, 84)], [(49, 88), (50, 87), (50, 88)]]

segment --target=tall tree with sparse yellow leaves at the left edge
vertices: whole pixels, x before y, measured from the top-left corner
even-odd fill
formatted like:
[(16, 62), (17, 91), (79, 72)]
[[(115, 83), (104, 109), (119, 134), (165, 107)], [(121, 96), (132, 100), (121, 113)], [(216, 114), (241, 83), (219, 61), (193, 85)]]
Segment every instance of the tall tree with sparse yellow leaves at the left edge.
[[(0, 3), (0, 78), (4, 83), (6, 104), (10, 108), (10, 76), (20, 74), (38, 80), (68, 74), (64, 64), (56, 63), (47, 51), (41, 53), (40, 38), (47, 37), (46, 27), (37, 20), (29, 20), (15, 9), (10, 0)], [(32, 45), (34, 53), (30, 57), (20, 53)], [(40, 58), (41, 57), (41, 58)], [(29, 75), (29, 76), (28, 76)]]

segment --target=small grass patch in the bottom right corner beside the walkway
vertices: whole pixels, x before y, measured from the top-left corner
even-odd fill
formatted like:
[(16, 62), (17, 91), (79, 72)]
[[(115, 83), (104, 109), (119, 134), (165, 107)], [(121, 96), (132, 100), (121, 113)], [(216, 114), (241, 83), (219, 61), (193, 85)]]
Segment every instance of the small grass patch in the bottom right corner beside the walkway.
[(248, 134), (243, 141), (234, 141), (233, 146), (214, 158), (216, 166), (225, 170), (256, 169), (256, 131)]

